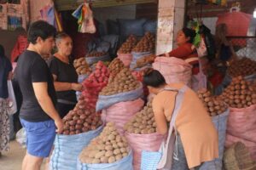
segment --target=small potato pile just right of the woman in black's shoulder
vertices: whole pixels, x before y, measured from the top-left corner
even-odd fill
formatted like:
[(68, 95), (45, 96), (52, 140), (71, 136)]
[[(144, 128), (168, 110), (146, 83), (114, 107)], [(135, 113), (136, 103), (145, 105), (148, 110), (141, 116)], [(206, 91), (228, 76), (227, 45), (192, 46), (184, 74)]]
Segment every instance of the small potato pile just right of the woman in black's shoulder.
[(90, 67), (87, 64), (84, 57), (79, 59), (74, 59), (73, 66), (76, 69), (78, 75), (90, 74)]

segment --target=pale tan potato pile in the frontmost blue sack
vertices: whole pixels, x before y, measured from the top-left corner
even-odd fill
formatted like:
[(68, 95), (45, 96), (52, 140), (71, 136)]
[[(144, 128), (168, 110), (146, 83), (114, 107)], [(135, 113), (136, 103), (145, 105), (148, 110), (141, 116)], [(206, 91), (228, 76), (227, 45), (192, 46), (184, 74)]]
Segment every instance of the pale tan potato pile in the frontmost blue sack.
[(108, 122), (102, 133), (81, 152), (79, 161), (87, 164), (113, 163), (128, 156), (129, 152), (125, 137), (119, 135), (113, 122)]

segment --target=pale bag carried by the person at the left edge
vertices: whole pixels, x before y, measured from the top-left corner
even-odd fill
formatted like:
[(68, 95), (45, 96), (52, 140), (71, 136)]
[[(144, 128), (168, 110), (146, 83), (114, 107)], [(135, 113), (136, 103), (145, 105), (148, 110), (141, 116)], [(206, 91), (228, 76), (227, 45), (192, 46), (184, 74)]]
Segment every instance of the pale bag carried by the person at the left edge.
[(13, 84), (10, 80), (7, 81), (8, 85), (8, 94), (9, 94), (9, 109), (8, 114), (14, 115), (17, 112), (17, 104), (16, 104), (16, 98), (15, 98), (15, 91), (13, 88)]

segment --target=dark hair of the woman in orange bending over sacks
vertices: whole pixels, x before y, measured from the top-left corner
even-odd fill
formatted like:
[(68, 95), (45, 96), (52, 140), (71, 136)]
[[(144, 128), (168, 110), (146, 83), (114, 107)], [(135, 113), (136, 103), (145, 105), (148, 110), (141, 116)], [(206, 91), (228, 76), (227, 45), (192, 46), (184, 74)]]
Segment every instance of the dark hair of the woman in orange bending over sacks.
[(145, 71), (143, 82), (146, 86), (151, 86), (154, 88), (160, 88), (161, 86), (166, 85), (165, 77), (161, 75), (160, 71), (153, 69)]

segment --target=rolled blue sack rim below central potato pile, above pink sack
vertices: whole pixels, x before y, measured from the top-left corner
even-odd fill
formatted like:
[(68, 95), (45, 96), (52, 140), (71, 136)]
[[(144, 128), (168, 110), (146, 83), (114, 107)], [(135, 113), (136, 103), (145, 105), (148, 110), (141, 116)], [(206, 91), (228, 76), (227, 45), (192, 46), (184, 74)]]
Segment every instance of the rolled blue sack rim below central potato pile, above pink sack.
[(143, 84), (140, 82), (140, 88), (132, 90), (130, 92), (113, 94), (113, 95), (99, 95), (96, 103), (96, 111), (102, 111), (111, 105), (117, 104), (122, 101), (131, 101), (143, 96)]

